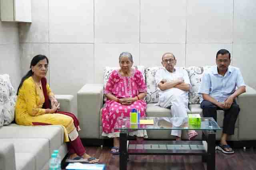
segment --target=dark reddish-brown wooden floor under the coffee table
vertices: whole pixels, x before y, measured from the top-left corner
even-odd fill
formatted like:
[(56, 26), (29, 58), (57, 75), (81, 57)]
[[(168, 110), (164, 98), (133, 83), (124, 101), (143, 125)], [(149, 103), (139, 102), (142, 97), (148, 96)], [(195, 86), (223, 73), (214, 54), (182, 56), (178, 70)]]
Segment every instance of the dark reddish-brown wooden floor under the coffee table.
[[(256, 148), (234, 149), (232, 155), (216, 151), (216, 170), (256, 170)], [(86, 147), (91, 156), (100, 158), (107, 170), (119, 169), (119, 156), (110, 154), (110, 147)], [(201, 156), (131, 155), (128, 170), (206, 170)]]

